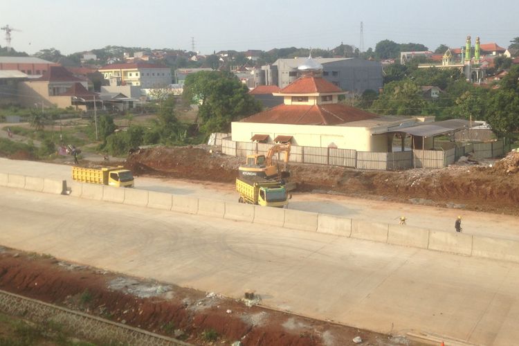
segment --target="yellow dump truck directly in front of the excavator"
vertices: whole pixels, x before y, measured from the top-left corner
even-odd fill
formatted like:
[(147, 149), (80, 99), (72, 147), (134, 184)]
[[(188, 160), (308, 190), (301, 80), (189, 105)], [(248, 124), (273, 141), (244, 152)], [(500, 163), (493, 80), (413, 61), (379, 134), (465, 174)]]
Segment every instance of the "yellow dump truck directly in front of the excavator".
[(239, 203), (257, 204), (260, 206), (284, 208), (289, 199), (281, 181), (236, 179), (236, 191)]

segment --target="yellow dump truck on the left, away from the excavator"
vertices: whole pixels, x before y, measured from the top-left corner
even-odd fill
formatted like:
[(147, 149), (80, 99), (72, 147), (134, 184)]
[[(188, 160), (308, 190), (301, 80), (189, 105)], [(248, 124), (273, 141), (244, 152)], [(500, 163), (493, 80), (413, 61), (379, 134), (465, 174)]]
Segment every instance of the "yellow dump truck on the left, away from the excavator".
[(122, 167), (86, 168), (73, 166), (72, 179), (81, 183), (93, 183), (116, 186), (117, 188), (133, 188), (134, 175)]

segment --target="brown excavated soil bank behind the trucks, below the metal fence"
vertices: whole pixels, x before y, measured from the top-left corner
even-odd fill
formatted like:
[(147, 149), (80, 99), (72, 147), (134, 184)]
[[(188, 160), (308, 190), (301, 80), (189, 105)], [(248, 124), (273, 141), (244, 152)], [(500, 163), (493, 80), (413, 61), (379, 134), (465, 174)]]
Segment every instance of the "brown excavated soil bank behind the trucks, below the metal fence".
[[(210, 152), (212, 150), (212, 152)], [(135, 174), (233, 183), (244, 158), (215, 148), (140, 149), (125, 167)], [(291, 164), (291, 181), (301, 191), (319, 190), (364, 199), (414, 202), (441, 207), (519, 215), (519, 153), (493, 163), (459, 163), (439, 170), (361, 171), (325, 165)]]

